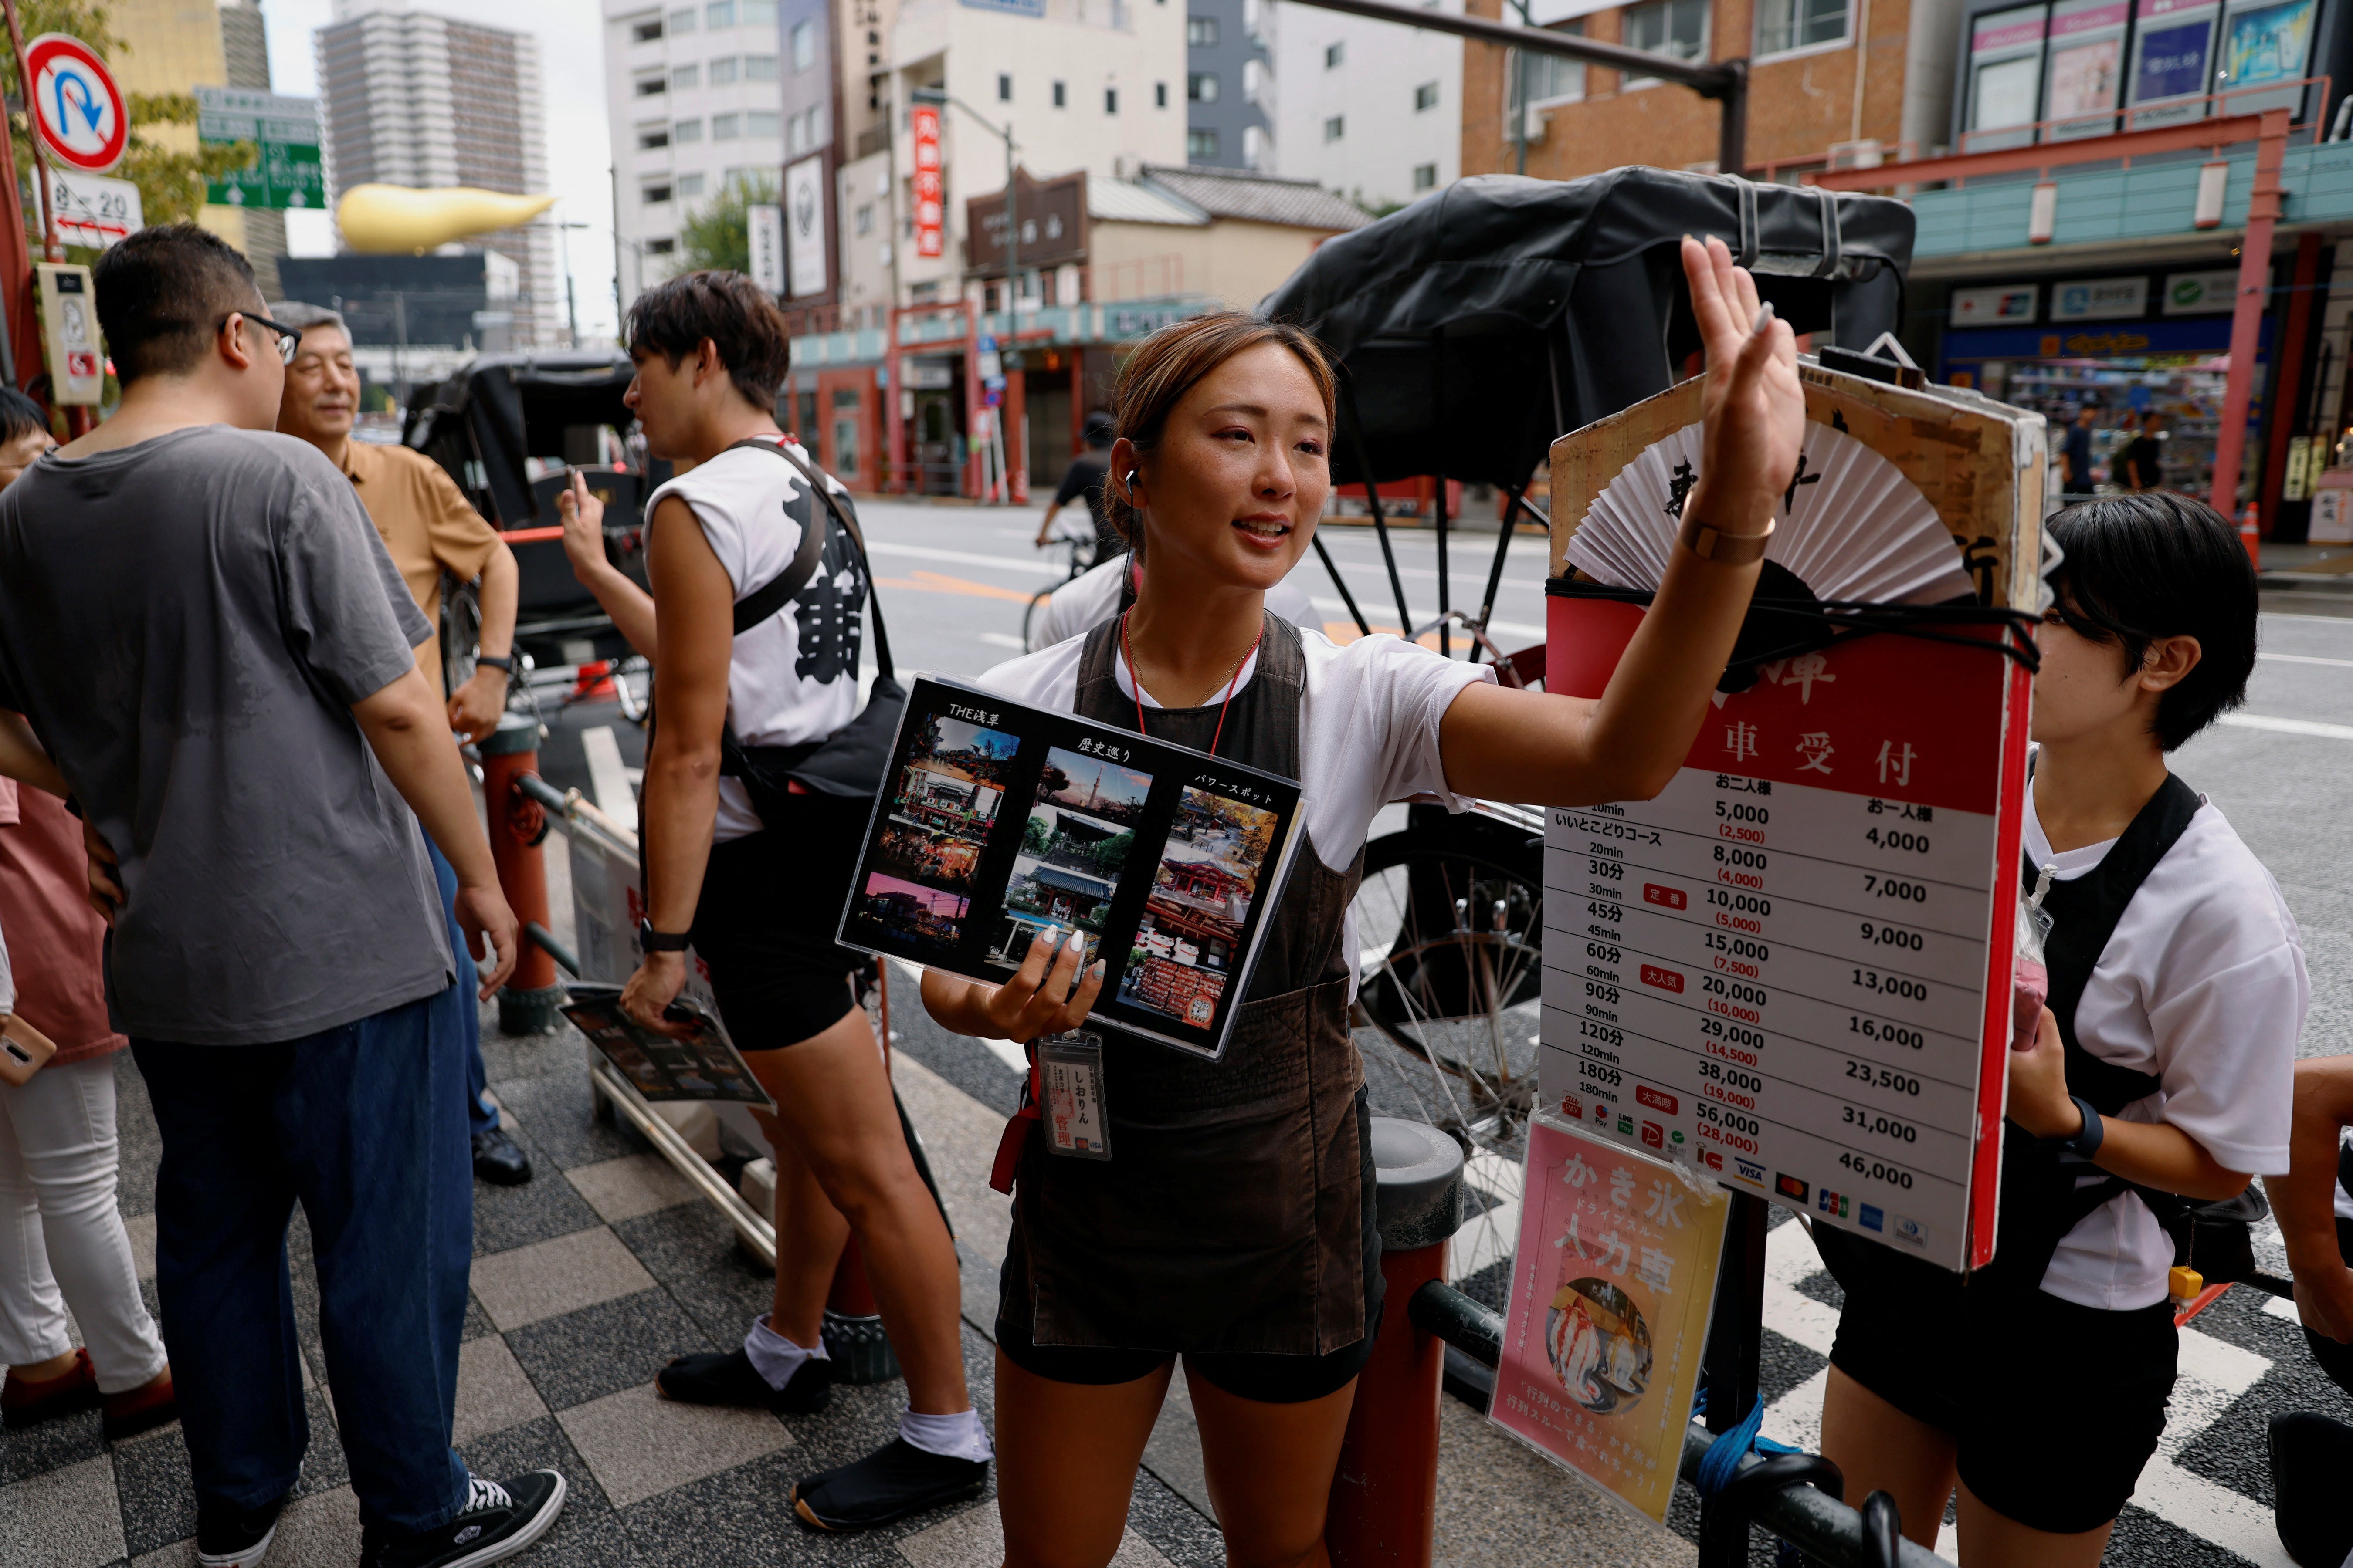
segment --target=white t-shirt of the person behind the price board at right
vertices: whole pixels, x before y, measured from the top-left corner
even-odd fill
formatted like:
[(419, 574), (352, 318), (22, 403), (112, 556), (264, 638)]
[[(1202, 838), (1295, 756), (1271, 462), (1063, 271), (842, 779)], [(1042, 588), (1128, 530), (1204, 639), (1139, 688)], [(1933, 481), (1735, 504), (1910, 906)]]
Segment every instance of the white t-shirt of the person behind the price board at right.
[[(2052, 853), (2026, 792), (2033, 865), (2057, 865), (2071, 882), (2113, 846)], [(2122, 1121), (2169, 1121), (2226, 1171), (2282, 1175), (2297, 1034), (2311, 997), (2304, 938), (2280, 884), (2207, 804), (2115, 922), (2075, 1004), (2075, 1039), (2106, 1063), (2162, 1079)], [(2172, 1237), (2125, 1192), (2059, 1241), (2042, 1288), (2080, 1307), (2129, 1312), (2165, 1300), (2172, 1262)]]

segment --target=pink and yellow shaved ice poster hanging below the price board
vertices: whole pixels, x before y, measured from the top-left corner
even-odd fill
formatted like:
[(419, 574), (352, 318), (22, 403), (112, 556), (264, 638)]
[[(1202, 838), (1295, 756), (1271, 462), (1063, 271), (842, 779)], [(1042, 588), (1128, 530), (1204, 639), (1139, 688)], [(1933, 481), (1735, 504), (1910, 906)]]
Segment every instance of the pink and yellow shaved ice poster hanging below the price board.
[(1732, 1199), (1541, 1114), (1487, 1420), (1666, 1523)]

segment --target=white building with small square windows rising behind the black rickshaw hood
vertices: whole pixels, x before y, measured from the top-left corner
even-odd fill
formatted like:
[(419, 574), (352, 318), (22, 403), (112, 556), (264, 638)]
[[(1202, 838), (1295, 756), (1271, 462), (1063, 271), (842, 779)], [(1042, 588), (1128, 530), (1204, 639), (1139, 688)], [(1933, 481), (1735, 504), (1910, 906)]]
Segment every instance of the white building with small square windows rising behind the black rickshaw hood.
[[(1461, 0), (1426, 9), (1464, 14)], [(1266, 0), (1264, 38), (1273, 158), (1257, 167), (1369, 209), (1402, 207), (1461, 176), (1459, 38), (1282, 0)]]

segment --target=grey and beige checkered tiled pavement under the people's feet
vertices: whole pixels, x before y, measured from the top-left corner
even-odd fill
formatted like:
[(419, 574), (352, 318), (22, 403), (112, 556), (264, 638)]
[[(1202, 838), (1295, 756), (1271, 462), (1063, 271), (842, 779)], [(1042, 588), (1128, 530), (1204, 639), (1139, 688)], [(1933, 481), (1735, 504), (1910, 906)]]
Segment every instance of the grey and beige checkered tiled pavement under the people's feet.
[[(913, 990), (913, 987), (908, 987)], [(939, 1171), (965, 1258), (965, 1359), (991, 1408), (995, 1258), (1005, 1204), (986, 1164), (1014, 1074), (974, 1041), (901, 1025), (899, 1086)], [(626, 1124), (591, 1117), (584, 1041), (485, 1034), (492, 1091), (536, 1164), (525, 1187), (475, 1187), (473, 1305), (459, 1371), (456, 1443), (475, 1474), (553, 1465), (572, 1488), (562, 1521), (518, 1563), (840, 1563), (986, 1568), (1000, 1561), (993, 1495), (955, 1514), (873, 1535), (821, 1537), (788, 1512), (793, 1476), (852, 1460), (896, 1425), (896, 1382), (842, 1387), (814, 1418), (704, 1410), (656, 1401), (673, 1354), (741, 1338), (769, 1279), (713, 1208)], [(122, 1211), (153, 1307), (155, 1126), (129, 1056), (118, 1058)], [(294, 1300), (311, 1378), (325, 1361), (306, 1232), (296, 1215)], [(976, 1324), (981, 1328), (976, 1328)], [(1176, 1385), (1181, 1389), (1181, 1380)], [(358, 1561), (353, 1500), (334, 1413), (311, 1389), (313, 1443), (301, 1497), (273, 1563)], [(1586, 1563), (1687, 1563), (1685, 1542), (1649, 1533), (1581, 1493), (1447, 1401), (1440, 1561), (1522, 1563), (1567, 1549)], [(1172, 1401), (1136, 1481), (1120, 1568), (1209, 1568), (1224, 1542), (1207, 1516), (1198, 1443)], [(151, 1568), (193, 1561), (195, 1497), (179, 1427), (108, 1446), (96, 1413), (0, 1432), (0, 1563)], [(1574, 1542), (1574, 1544), (1572, 1544)]]

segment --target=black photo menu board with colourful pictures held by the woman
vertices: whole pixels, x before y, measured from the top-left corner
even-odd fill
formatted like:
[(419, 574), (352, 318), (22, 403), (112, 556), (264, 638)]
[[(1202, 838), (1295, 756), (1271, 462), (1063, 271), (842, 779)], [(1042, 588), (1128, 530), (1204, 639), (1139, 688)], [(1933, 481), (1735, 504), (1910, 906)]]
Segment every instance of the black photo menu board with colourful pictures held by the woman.
[(925, 677), (840, 940), (1000, 983), (1075, 929), (1106, 964), (1092, 1020), (1214, 1060), (1297, 813), (1289, 778)]

